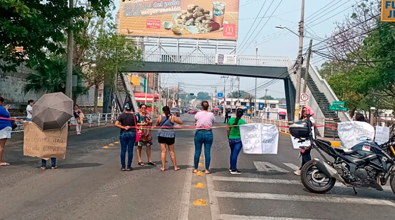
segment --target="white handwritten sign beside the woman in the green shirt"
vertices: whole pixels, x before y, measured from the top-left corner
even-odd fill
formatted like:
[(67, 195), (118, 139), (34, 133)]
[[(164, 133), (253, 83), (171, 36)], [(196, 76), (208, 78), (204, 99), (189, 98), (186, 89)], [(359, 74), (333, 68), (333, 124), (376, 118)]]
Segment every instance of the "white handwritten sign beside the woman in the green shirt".
[(277, 154), (279, 129), (271, 124), (244, 124), (240, 126), (244, 153)]

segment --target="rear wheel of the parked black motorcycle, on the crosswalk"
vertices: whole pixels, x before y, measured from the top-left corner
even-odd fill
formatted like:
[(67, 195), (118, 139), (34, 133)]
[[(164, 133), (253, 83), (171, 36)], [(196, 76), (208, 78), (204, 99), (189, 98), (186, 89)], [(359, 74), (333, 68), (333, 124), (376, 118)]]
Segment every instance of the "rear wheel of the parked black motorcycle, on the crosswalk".
[(313, 193), (325, 193), (332, 189), (336, 183), (335, 178), (329, 178), (313, 165), (307, 162), (301, 170), (301, 181), (304, 187)]

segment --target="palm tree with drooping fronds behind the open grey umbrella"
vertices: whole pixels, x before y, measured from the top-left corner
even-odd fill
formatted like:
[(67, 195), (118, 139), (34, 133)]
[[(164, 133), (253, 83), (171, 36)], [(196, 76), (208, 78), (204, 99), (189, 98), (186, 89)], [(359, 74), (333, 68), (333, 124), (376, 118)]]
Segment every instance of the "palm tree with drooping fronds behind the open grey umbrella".
[[(26, 77), (27, 83), (23, 87), (25, 94), (33, 92), (40, 93), (57, 93), (66, 92), (66, 59), (51, 58), (46, 63), (37, 65), (35, 72), (30, 72)], [(80, 70), (73, 70), (73, 75), (77, 76), (77, 86), (74, 87), (73, 100), (80, 95), (87, 93), (86, 87), (83, 86), (83, 74)]]

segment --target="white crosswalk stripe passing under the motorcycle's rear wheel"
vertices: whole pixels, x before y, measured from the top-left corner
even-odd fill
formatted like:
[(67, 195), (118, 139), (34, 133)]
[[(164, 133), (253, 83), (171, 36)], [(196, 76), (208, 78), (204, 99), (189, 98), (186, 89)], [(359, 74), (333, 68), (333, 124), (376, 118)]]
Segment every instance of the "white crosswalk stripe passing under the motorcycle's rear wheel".
[[(248, 182), (248, 183), (271, 183), (271, 184), (292, 184), (292, 185), (302, 185), (299, 180), (282, 180), (282, 179), (264, 179), (264, 178), (248, 178), (248, 177), (212, 177), (214, 181), (229, 181), (229, 182)], [(337, 187), (347, 187), (342, 183), (335, 183), (334, 186)], [(381, 186), (384, 190), (391, 191), (390, 186)], [(351, 189), (351, 188), (350, 188)], [(358, 190), (358, 188), (357, 188)], [(371, 189), (374, 190), (374, 189)]]

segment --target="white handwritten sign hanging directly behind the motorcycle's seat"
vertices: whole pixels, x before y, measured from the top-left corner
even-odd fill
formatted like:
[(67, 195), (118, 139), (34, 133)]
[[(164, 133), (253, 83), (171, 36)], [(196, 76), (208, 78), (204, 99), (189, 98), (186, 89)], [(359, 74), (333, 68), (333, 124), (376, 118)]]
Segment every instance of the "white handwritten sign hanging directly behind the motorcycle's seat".
[(362, 121), (348, 121), (338, 123), (338, 134), (342, 147), (351, 148), (363, 141), (362, 137), (374, 139), (374, 127)]

